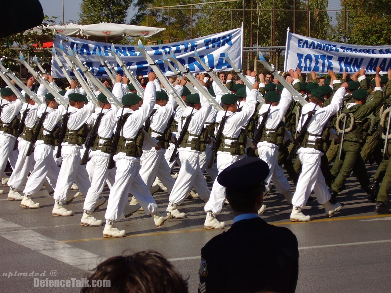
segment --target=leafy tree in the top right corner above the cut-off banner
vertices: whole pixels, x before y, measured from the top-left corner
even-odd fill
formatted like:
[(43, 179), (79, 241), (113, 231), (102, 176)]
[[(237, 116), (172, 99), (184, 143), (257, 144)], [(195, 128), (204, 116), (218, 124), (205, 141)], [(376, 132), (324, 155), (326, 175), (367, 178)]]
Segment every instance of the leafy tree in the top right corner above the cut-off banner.
[(345, 5), (348, 11), (346, 31), (344, 13), (340, 13), (333, 40), (369, 46), (391, 44), (391, 6), (388, 0), (341, 0), (341, 7)]

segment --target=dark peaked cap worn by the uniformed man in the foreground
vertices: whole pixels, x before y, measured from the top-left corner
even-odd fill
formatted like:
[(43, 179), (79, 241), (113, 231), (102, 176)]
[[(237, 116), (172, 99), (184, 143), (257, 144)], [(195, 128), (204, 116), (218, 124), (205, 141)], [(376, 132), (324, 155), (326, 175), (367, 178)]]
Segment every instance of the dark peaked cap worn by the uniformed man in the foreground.
[(229, 190), (246, 190), (262, 184), (267, 175), (269, 166), (265, 161), (257, 157), (246, 157), (222, 170), (217, 176), (217, 182)]

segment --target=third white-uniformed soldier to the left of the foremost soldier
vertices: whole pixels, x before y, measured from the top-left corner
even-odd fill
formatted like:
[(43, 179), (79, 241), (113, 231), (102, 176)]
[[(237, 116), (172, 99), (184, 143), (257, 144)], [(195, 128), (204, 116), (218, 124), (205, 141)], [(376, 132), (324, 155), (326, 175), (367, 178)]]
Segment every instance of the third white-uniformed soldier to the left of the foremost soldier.
[(36, 209), (39, 203), (35, 203), (31, 196), (41, 189), (43, 182), (47, 179), (52, 188), (56, 188), (56, 182), (59, 174), (59, 168), (54, 160), (54, 149), (56, 145), (56, 136), (59, 132), (58, 122), (63, 118), (66, 112), (65, 107), (59, 105), (51, 93), (45, 95), (45, 103), (38, 109), (38, 119), (43, 113), (46, 113), (41, 130), (34, 147), (34, 170), (32, 170), (26, 187), (23, 190), (24, 197), (20, 205)]

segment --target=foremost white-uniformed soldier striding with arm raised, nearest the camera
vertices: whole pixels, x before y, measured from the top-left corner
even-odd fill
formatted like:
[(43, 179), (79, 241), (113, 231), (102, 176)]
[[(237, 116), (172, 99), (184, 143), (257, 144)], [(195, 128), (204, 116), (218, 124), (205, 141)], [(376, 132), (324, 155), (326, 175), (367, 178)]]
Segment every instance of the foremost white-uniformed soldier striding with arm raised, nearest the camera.
[[(110, 190), (106, 209), (106, 225), (103, 237), (123, 237), (125, 230), (114, 227), (127, 204), (129, 191), (136, 197), (147, 214), (154, 218), (155, 225), (160, 227), (169, 219), (170, 214), (160, 214), (158, 205), (153, 199), (147, 185), (143, 182), (140, 172), (140, 156), (142, 154), (142, 127), (156, 102), (156, 88), (154, 80), (156, 74), (148, 74), (149, 82), (145, 88), (143, 105), (140, 107), (140, 97), (137, 93), (129, 93), (122, 97), (124, 107), (117, 112), (117, 117), (124, 115), (126, 120), (120, 132), (117, 154), (114, 156), (117, 173), (115, 183)], [(123, 113), (122, 113), (123, 110)]]

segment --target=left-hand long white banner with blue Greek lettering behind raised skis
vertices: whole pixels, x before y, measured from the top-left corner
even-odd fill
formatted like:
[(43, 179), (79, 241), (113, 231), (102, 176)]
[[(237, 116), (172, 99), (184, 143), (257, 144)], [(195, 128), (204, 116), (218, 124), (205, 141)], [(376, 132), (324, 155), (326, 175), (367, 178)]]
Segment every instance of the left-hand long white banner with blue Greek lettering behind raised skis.
[[(192, 57), (192, 55), (194, 55), (194, 49), (197, 49), (199, 56), (207, 66), (217, 71), (227, 71), (232, 70), (232, 68), (228, 67), (229, 64), (226, 63), (224, 59), (220, 58), (223, 53), (227, 53), (231, 61), (237, 67), (242, 68), (242, 35), (242, 28), (239, 28), (187, 41), (145, 46), (145, 49), (153, 60), (163, 59), (163, 52), (167, 57), (170, 57), (171, 52), (174, 52), (180, 63), (188, 64), (189, 70), (192, 73), (199, 73), (204, 70), (202, 66), (195, 61), (194, 57)], [(83, 63), (86, 62), (86, 65), (91, 68), (91, 72), (93, 72), (96, 77), (108, 77), (99, 60), (95, 57), (97, 54), (104, 55), (106, 59), (115, 66), (117, 72), (123, 74), (122, 69), (115, 61), (115, 58), (110, 54), (111, 44), (56, 35), (53, 40), (54, 47), (59, 48), (60, 41), (63, 41), (64, 52), (66, 54), (68, 54), (68, 47), (74, 48), (75, 46), (81, 61)], [(133, 71), (135, 75), (148, 75), (151, 68), (148, 66), (147, 61), (145, 61), (140, 52), (137, 51), (136, 46), (115, 45), (115, 49), (121, 56), (122, 61), (124, 61), (127, 66), (130, 66), (130, 71)], [(62, 63), (66, 64), (63, 56), (61, 56), (61, 54), (58, 55)], [(224, 55), (222, 57), (224, 57)], [(172, 71), (170, 71), (162, 61), (158, 62), (158, 66), (166, 75), (173, 75)], [(52, 75), (57, 78), (65, 77), (59, 64), (53, 59)], [(70, 72), (70, 75), (74, 77), (72, 72)]]

